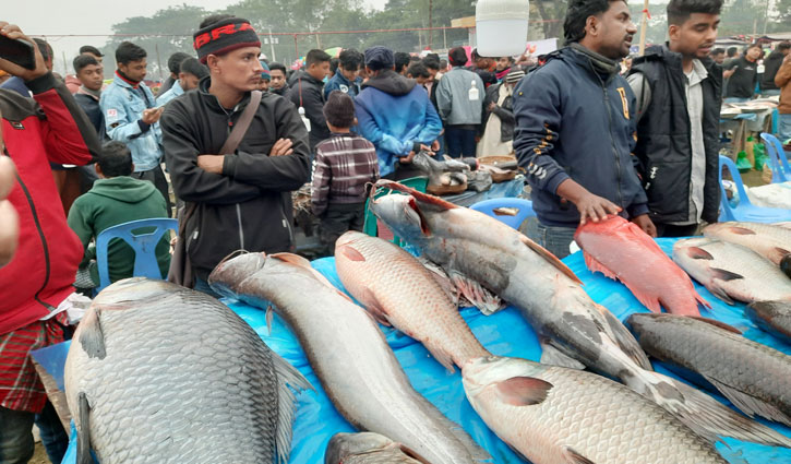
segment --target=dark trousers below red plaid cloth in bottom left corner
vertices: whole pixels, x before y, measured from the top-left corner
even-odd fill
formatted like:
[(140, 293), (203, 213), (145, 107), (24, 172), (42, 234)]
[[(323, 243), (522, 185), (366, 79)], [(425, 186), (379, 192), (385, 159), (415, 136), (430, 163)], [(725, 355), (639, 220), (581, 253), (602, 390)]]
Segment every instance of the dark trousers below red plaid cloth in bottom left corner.
[(24, 464), (33, 457), (33, 424), (41, 432), (41, 442), (49, 460), (60, 463), (69, 447), (69, 436), (55, 412), (52, 404), (40, 414), (26, 411), (13, 411), (0, 406), (0, 464)]

